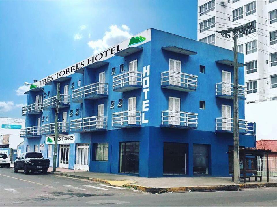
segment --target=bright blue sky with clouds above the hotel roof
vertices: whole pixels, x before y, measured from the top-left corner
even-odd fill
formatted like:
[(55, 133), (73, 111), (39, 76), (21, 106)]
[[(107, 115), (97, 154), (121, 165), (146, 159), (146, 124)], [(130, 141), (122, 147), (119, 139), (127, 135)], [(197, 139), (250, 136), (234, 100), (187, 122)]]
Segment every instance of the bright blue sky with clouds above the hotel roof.
[(197, 1), (1, 1), (0, 116), (20, 118), (25, 81), (44, 78), (132, 34), (197, 38)]

